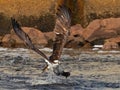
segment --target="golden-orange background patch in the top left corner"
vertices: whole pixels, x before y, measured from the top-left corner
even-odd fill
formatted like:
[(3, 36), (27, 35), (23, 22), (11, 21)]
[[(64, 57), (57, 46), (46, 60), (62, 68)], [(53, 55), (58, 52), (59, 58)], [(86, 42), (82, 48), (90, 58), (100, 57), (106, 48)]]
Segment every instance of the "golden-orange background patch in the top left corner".
[(50, 12), (54, 0), (0, 0), (0, 12), (7, 15), (35, 15)]

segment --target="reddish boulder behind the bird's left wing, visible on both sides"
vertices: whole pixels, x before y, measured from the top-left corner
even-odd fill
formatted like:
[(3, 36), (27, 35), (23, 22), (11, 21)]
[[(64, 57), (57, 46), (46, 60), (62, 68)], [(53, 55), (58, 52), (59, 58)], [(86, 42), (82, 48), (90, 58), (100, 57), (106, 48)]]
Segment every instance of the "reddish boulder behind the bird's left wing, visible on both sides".
[[(29, 35), (33, 44), (43, 45), (43, 46), (47, 44), (47, 40), (44, 36), (44, 33), (42, 33), (41, 31), (29, 27), (22, 27), (22, 29), (25, 33)], [(7, 34), (3, 37), (2, 43), (3, 46), (8, 46), (8, 47), (25, 46), (24, 42), (15, 34), (13, 30), (11, 30), (10, 34)]]

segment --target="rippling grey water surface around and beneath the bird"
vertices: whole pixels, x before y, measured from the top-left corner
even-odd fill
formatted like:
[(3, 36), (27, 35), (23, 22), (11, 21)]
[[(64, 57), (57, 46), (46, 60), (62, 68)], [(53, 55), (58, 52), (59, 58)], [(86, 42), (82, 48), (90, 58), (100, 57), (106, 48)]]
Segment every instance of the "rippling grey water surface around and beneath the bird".
[(120, 90), (119, 51), (65, 49), (61, 66), (71, 72), (67, 79), (42, 73), (45, 65), (31, 50), (0, 48), (0, 90)]

